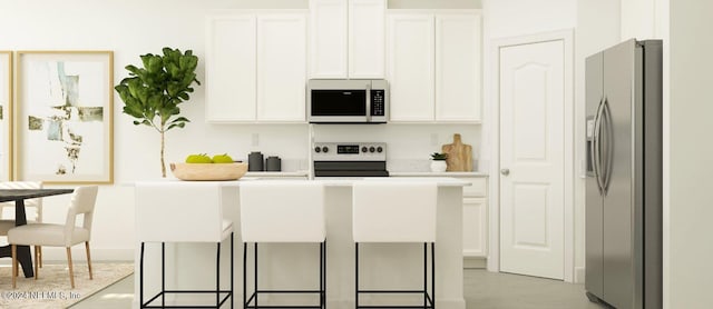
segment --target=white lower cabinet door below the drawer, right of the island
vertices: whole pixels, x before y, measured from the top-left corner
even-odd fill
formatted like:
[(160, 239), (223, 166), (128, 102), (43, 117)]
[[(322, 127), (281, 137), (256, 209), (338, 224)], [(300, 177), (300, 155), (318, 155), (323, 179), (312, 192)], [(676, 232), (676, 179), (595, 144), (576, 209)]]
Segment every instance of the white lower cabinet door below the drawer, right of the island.
[(488, 202), (486, 199), (463, 199), (463, 256), (486, 257), (488, 236)]

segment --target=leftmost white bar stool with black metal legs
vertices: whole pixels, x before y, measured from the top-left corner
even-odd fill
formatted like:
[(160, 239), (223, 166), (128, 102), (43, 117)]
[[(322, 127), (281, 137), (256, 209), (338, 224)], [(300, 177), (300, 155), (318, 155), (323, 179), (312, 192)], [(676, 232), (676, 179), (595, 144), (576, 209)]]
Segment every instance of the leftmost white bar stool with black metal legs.
[[(231, 299), (233, 308), (233, 222), (224, 219), (219, 183), (137, 182), (136, 225), (141, 242), (139, 266), (140, 308), (221, 308)], [(221, 289), (221, 242), (231, 240), (231, 289)], [(160, 291), (144, 301), (144, 245), (160, 242)], [(214, 242), (217, 245), (214, 290), (166, 288), (166, 242)], [(166, 295), (215, 295), (214, 305), (166, 305)], [(160, 303), (152, 305), (154, 301)]]

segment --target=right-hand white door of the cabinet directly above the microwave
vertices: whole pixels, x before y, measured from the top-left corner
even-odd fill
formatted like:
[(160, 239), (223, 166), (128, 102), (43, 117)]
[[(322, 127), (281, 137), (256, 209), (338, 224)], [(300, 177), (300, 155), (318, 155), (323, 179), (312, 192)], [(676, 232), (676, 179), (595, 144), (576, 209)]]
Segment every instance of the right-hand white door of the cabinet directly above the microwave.
[(385, 0), (349, 0), (349, 77), (384, 77)]

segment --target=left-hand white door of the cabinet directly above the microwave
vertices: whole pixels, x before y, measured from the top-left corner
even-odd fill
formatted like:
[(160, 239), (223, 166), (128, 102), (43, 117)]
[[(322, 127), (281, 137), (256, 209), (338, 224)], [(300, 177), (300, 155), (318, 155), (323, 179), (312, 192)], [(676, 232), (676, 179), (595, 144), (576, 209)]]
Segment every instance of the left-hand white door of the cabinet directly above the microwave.
[(310, 33), (310, 77), (346, 78), (346, 0), (311, 0)]

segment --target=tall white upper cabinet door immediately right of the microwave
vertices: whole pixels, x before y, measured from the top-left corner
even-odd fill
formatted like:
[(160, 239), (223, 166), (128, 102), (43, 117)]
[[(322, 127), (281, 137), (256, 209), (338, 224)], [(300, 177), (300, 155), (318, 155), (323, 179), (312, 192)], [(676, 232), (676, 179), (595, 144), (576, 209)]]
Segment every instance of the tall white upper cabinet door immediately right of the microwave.
[(433, 121), (433, 17), (390, 14), (388, 78), (392, 121)]

